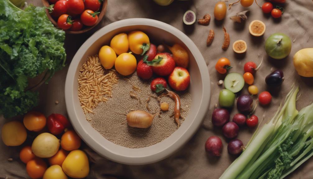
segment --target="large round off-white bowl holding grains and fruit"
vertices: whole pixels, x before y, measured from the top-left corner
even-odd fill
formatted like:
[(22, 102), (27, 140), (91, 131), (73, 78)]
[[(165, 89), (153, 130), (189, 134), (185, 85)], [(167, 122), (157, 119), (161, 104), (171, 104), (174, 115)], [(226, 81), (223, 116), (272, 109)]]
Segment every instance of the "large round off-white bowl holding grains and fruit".
[[(110, 44), (111, 38), (121, 32), (142, 30), (152, 42), (179, 43), (188, 49), (192, 105), (182, 125), (164, 141), (152, 146), (131, 149), (106, 140), (85, 119), (78, 99), (79, 69), (88, 56), (98, 54), (103, 45)], [(132, 18), (111, 23), (94, 33), (75, 54), (65, 81), (65, 102), (69, 119), (79, 136), (96, 152), (112, 161), (140, 165), (160, 161), (184, 145), (198, 130), (207, 114), (210, 101), (210, 78), (207, 65), (196, 45), (184, 33), (167, 23)]]

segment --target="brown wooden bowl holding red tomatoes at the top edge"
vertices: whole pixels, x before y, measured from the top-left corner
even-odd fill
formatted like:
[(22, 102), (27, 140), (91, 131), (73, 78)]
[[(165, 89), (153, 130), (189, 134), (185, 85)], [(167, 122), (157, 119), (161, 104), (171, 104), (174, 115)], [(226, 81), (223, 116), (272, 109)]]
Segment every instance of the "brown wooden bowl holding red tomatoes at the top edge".
[[(44, 7), (46, 8), (49, 8), (50, 4), (49, 4), (49, 1), (48, 0), (41, 0), (42, 3), (44, 4)], [(64, 30), (66, 33), (72, 33), (72, 34), (79, 34), (79, 33), (84, 33), (84, 32), (87, 32), (89, 31), (90, 29), (94, 28), (96, 25), (98, 25), (98, 23), (100, 23), (100, 21), (103, 19), (104, 15), (105, 15), (105, 12), (106, 12), (106, 7), (108, 5), (108, 0), (104, 0), (103, 3), (101, 4), (100, 6), (100, 14), (98, 15), (98, 20), (97, 22), (95, 23), (95, 25), (93, 26), (84, 26), (81, 30), (79, 31), (71, 31), (71, 30)], [(54, 20), (54, 18), (50, 15), (49, 13), (49, 10), (46, 9), (46, 14), (49, 18), (49, 20), (53, 23), (53, 25), (57, 28), (58, 27), (58, 22)]]

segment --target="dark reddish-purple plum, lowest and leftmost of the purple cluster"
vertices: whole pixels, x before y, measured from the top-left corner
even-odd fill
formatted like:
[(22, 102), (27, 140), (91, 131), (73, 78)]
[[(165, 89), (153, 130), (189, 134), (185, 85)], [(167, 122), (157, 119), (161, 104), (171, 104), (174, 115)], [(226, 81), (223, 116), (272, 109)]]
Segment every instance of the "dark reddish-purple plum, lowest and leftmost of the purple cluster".
[(211, 156), (221, 156), (223, 150), (222, 140), (218, 136), (211, 136), (205, 142), (205, 150)]

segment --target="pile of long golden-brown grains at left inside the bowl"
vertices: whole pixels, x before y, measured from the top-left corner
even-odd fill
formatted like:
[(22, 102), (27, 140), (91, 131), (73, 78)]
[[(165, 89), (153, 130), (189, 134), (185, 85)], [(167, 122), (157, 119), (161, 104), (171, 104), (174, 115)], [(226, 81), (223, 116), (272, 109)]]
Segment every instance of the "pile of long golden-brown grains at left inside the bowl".
[(112, 96), (113, 84), (118, 77), (115, 70), (105, 70), (97, 55), (90, 56), (80, 68), (78, 77), (78, 97), (85, 114)]

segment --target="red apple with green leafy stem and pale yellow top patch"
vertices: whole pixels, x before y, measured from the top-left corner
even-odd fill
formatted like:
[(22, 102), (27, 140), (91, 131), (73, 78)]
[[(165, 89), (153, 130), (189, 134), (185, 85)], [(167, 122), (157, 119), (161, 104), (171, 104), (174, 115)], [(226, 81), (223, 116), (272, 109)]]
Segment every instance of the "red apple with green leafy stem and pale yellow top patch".
[(159, 76), (167, 76), (172, 73), (175, 68), (175, 61), (169, 53), (158, 53), (151, 61), (152, 71)]

